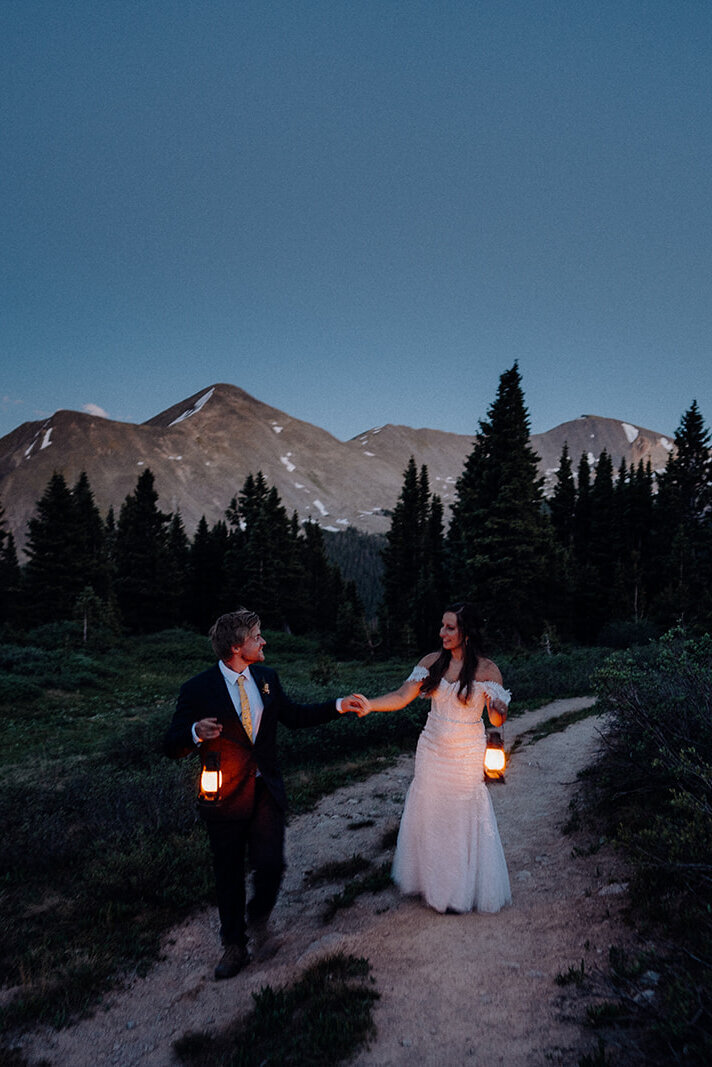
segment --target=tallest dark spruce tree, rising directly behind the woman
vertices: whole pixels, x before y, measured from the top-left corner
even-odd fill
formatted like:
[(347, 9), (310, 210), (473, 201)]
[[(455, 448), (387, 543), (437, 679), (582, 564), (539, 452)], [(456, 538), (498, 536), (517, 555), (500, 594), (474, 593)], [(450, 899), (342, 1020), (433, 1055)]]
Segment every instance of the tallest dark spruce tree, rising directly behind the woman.
[(529, 641), (548, 621), (558, 567), (542, 500), (515, 363), (458, 479), (449, 532), (454, 595), (474, 602), (504, 642)]

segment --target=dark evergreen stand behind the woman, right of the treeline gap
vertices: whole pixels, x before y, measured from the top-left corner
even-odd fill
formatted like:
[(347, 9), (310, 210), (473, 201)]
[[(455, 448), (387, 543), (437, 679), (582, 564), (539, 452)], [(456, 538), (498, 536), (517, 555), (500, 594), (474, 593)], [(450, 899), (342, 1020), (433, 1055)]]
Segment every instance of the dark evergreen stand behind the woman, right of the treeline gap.
[(712, 458), (696, 401), (664, 471), (617, 471), (604, 450), (574, 474), (564, 445), (543, 495), (517, 364), (502, 375), (456, 483), (447, 532), (414, 460), (386, 535), (381, 627), (399, 651), (432, 647), (439, 605), (470, 600), (497, 646), (628, 644), (712, 623)]

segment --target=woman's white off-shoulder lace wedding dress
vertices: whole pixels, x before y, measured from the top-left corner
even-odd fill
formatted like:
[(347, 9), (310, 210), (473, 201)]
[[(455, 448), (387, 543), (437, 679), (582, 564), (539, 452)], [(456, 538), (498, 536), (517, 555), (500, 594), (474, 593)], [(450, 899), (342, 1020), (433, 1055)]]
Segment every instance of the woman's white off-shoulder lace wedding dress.
[[(409, 681), (427, 678), (416, 667)], [(484, 778), (485, 695), (509, 703), (496, 682), (475, 682), (466, 704), (457, 682), (440, 683), (417, 743), (393, 880), (436, 911), (499, 911), (511, 902), (509, 875)]]

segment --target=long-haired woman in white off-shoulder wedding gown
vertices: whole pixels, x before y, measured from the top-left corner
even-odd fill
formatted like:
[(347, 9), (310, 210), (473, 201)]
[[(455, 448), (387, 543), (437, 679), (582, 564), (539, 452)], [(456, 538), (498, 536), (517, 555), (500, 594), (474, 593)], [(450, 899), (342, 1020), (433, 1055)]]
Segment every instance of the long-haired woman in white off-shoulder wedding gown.
[(440, 639), (442, 650), (424, 656), (399, 689), (373, 700), (360, 697), (362, 715), (396, 711), (418, 695), (430, 698), (393, 879), (436, 911), (499, 911), (511, 893), (484, 778), (482, 711), (487, 705), (492, 726), (502, 726), (510, 695), (497, 666), (481, 654), (471, 604), (445, 610)]

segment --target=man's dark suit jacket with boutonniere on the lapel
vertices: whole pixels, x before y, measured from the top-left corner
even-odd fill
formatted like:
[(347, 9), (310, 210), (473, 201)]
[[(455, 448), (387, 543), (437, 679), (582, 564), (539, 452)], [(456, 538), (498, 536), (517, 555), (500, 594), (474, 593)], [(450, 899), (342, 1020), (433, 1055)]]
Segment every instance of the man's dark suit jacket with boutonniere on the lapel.
[[(220, 752), (220, 798), (209, 803), (200, 802), (201, 814), (206, 819), (248, 818), (257, 770), (279, 806), (286, 809), (287, 798), (276, 755), (278, 722), (296, 729), (338, 718), (334, 700), (321, 704), (297, 704), (290, 700), (271, 667), (253, 664), (250, 672), (265, 704), (254, 744), (244, 732), (217, 664), (180, 687), (175, 714), (165, 733), (163, 747), (171, 759), (178, 760), (195, 751), (204, 759), (208, 751)], [(205, 718), (218, 719), (222, 733), (216, 740), (195, 745), (191, 728)]]

